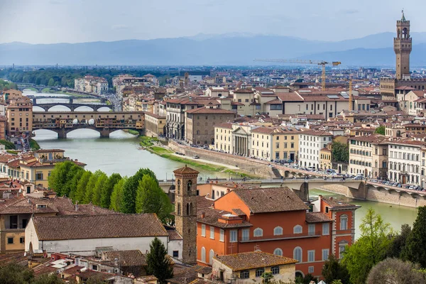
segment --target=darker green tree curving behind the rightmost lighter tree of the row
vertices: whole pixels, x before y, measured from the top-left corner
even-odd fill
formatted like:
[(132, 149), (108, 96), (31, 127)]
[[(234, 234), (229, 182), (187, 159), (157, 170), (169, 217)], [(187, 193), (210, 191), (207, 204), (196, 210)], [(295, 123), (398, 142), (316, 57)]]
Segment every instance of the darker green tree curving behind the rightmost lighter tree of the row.
[[(148, 168), (139, 169), (136, 174), (132, 175), (123, 186), (123, 194), (121, 201), (121, 212), (123, 213), (136, 213), (136, 195), (138, 191), (139, 182), (142, 180), (143, 175), (151, 175), (151, 177), (155, 177), (155, 173)], [(158, 180), (157, 180), (158, 183)]]

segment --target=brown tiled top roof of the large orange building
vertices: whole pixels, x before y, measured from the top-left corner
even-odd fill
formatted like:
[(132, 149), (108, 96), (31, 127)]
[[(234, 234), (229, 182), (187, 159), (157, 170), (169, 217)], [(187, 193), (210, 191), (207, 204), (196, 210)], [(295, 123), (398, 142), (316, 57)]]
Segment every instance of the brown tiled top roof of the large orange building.
[(254, 188), (233, 192), (255, 214), (307, 209), (305, 202), (288, 187)]

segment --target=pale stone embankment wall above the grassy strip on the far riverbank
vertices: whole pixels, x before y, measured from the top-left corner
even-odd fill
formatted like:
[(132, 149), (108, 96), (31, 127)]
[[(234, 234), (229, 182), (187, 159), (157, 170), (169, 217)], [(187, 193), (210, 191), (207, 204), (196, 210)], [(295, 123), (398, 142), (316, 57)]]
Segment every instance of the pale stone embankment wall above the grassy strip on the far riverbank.
[(175, 141), (169, 141), (168, 146), (172, 151), (184, 153), (190, 157), (192, 157), (192, 155), (198, 155), (203, 160), (211, 160), (212, 162), (223, 163), (225, 165), (234, 165), (239, 168), (241, 172), (249, 175), (257, 175), (259, 178), (271, 178), (274, 176), (271, 167), (268, 166), (269, 163), (262, 160), (253, 160), (237, 155), (194, 148), (176, 143)]

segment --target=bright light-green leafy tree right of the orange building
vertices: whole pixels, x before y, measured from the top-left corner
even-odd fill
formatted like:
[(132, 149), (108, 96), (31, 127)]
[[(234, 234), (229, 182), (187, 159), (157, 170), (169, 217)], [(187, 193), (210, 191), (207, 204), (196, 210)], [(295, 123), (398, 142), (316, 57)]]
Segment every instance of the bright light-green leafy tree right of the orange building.
[(371, 268), (386, 258), (391, 239), (391, 225), (383, 222), (381, 215), (369, 208), (362, 219), (361, 237), (346, 249), (342, 265), (349, 272), (351, 283), (364, 284)]

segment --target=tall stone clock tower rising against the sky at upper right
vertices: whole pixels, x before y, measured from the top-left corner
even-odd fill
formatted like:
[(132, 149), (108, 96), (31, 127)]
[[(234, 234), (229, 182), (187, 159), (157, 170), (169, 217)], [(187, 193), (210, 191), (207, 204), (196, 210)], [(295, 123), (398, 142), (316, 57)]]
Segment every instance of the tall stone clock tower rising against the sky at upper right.
[(410, 79), (410, 21), (405, 20), (404, 10), (400, 21), (396, 21), (396, 38), (393, 38), (393, 50), (396, 55), (396, 80)]

